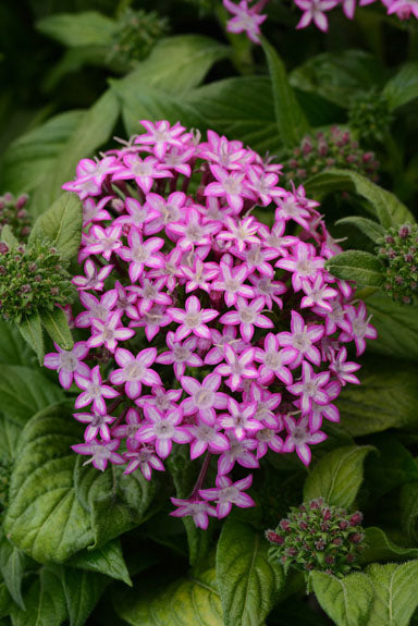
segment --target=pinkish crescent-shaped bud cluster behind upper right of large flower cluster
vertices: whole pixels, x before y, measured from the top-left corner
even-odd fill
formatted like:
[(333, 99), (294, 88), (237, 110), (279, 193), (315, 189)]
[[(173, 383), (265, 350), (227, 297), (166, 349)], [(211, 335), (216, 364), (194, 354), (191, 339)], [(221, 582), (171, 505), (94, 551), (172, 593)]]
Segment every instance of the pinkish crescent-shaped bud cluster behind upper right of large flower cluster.
[(333, 126), (314, 137), (304, 137), (300, 146), (293, 150), (283, 173), (287, 182), (300, 183), (330, 168), (355, 170), (374, 182), (379, 161), (374, 152), (365, 152), (359, 147), (349, 131)]

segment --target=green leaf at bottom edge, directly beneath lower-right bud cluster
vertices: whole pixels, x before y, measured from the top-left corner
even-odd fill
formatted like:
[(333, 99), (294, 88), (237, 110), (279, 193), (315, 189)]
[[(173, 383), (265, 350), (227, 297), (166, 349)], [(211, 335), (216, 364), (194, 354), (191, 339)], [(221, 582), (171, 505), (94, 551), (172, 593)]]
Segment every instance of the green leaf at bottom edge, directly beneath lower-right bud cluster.
[[(318, 602), (336, 626), (369, 625), (373, 587), (368, 576), (351, 574), (336, 578), (322, 572), (312, 572), (310, 581)], [(380, 626), (386, 624), (382, 622)]]

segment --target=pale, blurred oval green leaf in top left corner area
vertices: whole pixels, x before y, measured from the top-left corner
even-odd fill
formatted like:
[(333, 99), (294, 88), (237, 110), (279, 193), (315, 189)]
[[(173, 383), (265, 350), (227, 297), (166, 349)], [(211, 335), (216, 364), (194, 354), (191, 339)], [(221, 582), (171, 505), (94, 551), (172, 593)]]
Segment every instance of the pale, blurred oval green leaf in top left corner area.
[(116, 24), (97, 11), (58, 13), (39, 20), (36, 29), (69, 47), (108, 46)]

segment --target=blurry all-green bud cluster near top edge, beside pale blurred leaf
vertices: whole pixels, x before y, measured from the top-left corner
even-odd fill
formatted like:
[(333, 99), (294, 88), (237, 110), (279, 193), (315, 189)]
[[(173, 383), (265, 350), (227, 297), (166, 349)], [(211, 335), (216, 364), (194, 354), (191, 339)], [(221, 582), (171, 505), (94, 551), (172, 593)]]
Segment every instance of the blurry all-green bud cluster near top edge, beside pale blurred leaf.
[(125, 9), (113, 35), (111, 60), (127, 66), (144, 60), (167, 32), (168, 20), (156, 11)]

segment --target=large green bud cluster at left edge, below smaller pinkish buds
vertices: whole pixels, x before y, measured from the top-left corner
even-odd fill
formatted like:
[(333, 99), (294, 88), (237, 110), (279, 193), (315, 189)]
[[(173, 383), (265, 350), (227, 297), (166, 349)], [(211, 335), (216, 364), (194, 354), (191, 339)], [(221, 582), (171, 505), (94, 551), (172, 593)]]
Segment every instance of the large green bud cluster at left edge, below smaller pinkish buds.
[(73, 286), (65, 263), (48, 243), (9, 247), (0, 242), (0, 315), (20, 322), (22, 317), (72, 299)]

